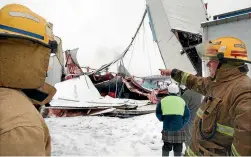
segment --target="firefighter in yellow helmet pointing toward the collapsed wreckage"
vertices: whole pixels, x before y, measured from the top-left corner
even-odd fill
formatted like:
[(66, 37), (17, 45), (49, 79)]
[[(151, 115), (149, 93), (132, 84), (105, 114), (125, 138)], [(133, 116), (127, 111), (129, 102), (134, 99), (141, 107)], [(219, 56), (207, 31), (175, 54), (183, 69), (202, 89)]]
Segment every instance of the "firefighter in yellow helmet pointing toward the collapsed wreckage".
[(178, 69), (160, 69), (162, 75), (205, 96), (194, 120), (188, 156), (251, 156), (251, 80), (245, 44), (221, 37), (205, 44), (209, 77)]

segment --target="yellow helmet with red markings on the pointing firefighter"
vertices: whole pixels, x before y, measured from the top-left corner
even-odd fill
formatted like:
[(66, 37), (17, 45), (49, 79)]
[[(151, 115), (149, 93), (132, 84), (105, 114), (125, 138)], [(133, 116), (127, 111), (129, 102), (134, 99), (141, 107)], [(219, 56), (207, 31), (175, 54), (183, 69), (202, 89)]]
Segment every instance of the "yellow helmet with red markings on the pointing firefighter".
[(209, 41), (204, 47), (204, 59), (229, 59), (240, 62), (248, 62), (248, 53), (245, 43), (235, 37), (220, 37)]

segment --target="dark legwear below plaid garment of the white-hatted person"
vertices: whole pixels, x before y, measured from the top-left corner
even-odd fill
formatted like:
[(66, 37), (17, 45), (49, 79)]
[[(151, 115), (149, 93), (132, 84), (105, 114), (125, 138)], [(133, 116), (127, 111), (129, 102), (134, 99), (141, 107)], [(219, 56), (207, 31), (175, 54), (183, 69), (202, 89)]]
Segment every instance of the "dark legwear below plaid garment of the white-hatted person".
[(173, 150), (174, 156), (181, 156), (183, 149), (182, 143), (164, 142), (162, 147), (162, 156), (169, 156), (169, 152)]

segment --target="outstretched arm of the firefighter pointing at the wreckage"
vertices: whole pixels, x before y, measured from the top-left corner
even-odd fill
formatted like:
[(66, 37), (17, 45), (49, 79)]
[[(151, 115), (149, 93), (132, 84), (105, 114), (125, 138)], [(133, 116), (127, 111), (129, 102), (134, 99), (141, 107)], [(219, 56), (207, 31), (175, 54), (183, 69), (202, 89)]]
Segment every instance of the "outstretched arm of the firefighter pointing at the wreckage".
[(211, 82), (211, 78), (197, 77), (178, 69), (160, 69), (160, 71), (162, 75), (171, 76), (172, 79), (185, 85), (187, 88), (199, 92), (202, 95), (207, 95), (208, 84)]

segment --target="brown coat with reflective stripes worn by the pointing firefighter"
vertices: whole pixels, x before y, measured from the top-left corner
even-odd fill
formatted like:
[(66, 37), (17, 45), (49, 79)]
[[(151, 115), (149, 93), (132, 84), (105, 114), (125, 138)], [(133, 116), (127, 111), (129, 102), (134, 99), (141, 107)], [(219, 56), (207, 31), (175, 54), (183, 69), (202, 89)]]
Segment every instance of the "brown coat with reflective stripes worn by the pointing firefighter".
[(172, 77), (205, 99), (197, 111), (189, 156), (251, 156), (251, 80), (245, 66), (219, 69), (216, 80), (173, 70)]

